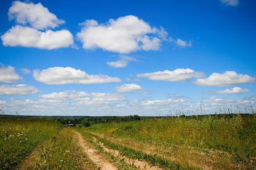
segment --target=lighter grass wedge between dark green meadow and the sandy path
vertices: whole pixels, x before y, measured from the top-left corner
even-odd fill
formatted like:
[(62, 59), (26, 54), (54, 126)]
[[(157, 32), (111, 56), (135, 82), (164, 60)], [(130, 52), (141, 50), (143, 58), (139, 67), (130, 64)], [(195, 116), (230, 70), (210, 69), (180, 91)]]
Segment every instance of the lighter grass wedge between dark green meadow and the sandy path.
[(65, 127), (35, 152), (28, 170), (98, 170), (73, 138), (73, 130)]

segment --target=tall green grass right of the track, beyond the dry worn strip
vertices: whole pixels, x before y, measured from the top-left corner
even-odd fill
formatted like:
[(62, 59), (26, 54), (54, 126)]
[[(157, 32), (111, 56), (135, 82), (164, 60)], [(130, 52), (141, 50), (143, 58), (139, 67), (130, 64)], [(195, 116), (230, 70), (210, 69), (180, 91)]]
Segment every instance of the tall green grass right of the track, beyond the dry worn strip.
[(203, 152), (211, 149), (220, 150), (231, 156), (226, 166), (231, 163), (244, 164), (248, 168), (256, 166), (255, 114), (167, 117), (137, 122), (97, 124), (87, 127), (86, 130), (166, 147), (185, 145), (196, 147)]

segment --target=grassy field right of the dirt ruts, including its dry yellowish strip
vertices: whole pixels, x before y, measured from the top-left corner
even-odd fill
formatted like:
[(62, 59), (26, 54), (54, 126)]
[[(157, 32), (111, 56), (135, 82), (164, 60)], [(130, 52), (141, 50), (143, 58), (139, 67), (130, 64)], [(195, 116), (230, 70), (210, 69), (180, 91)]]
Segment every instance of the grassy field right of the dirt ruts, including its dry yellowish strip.
[(119, 148), (142, 153), (151, 150), (150, 154), (174, 161), (185, 169), (256, 167), (255, 114), (167, 117), (97, 124), (84, 130), (103, 134), (104, 140)]

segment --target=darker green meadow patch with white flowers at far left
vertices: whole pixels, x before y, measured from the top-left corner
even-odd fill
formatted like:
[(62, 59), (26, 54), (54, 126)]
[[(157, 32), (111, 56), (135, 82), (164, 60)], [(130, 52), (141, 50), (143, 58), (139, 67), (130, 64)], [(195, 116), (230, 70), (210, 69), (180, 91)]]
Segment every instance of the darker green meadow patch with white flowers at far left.
[(51, 119), (0, 119), (0, 169), (15, 169), (38, 144), (61, 129)]

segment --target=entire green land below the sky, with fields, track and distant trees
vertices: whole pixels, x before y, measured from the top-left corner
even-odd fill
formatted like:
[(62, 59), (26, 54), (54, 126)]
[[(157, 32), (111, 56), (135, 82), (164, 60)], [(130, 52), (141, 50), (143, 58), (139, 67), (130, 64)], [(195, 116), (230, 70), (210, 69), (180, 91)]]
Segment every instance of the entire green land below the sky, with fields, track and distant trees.
[(102, 168), (84, 147), (122, 170), (251, 170), (256, 167), (256, 113), (252, 108), (193, 116), (2, 113), (0, 146), (1, 170)]

